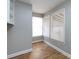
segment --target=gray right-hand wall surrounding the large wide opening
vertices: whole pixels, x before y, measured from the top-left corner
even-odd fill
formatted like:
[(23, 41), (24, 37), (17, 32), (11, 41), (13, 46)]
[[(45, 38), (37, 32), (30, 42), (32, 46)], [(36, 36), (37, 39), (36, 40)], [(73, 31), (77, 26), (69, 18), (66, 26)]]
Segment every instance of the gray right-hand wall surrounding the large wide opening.
[(47, 36), (44, 36), (44, 40), (71, 54), (71, 1), (66, 0), (62, 4), (56, 6), (54, 9), (48, 11), (44, 16), (51, 15), (55, 11), (62, 8), (65, 8), (65, 43), (49, 39)]

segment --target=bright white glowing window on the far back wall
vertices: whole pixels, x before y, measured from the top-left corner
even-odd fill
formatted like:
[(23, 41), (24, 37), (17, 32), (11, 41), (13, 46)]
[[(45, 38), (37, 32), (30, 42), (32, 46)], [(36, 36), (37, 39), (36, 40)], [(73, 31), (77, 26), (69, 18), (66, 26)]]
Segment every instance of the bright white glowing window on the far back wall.
[(42, 18), (32, 17), (32, 36), (42, 35)]

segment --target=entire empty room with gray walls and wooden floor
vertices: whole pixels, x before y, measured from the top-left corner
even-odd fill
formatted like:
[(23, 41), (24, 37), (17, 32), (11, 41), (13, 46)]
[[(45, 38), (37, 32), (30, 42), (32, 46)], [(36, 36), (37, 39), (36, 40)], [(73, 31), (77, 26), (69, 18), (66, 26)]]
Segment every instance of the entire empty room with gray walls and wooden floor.
[(71, 59), (71, 0), (7, 5), (7, 59)]

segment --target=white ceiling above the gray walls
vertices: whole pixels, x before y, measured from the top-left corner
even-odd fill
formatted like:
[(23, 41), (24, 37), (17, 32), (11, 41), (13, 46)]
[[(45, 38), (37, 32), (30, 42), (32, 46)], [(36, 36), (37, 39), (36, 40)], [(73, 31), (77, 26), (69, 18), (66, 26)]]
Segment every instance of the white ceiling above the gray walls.
[(64, 0), (20, 0), (32, 4), (34, 13), (44, 14), (50, 9), (62, 3)]

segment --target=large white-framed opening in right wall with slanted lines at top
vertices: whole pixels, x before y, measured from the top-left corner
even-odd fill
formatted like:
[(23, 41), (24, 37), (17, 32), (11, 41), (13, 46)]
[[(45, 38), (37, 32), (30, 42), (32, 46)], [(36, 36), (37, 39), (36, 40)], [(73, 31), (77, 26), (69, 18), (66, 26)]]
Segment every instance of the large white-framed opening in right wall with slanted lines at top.
[(51, 15), (51, 39), (61, 42), (65, 40), (65, 9), (60, 9)]

